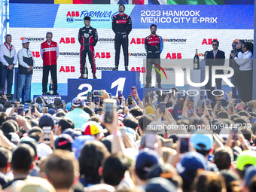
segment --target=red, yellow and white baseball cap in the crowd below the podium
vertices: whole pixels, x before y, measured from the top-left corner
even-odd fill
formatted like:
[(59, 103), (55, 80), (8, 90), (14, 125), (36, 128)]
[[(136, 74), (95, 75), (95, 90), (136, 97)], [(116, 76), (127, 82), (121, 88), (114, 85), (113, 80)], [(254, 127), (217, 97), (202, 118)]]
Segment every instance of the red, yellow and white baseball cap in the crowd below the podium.
[(87, 121), (87, 123), (84, 123), (84, 125), (81, 128), (81, 133), (84, 133), (86, 136), (93, 136), (98, 133), (107, 133), (108, 130), (103, 129), (99, 123), (96, 123), (95, 121)]

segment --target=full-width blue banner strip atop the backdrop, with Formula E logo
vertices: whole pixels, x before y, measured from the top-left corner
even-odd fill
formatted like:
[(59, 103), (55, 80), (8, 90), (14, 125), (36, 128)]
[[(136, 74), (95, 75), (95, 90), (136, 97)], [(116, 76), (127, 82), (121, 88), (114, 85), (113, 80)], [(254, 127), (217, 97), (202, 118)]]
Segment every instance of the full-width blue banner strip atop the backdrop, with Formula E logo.
[[(236, 10), (246, 17), (237, 20)], [(10, 27), (80, 28), (89, 16), (96, 29), (111, 29), (117, 13), (117, 5), (11, 4)], [(149, 29), (153, 23), (157, 29), (254, 29), (254, 5), (126, 5), (125, 13), (131, 16), (133, 29)]]

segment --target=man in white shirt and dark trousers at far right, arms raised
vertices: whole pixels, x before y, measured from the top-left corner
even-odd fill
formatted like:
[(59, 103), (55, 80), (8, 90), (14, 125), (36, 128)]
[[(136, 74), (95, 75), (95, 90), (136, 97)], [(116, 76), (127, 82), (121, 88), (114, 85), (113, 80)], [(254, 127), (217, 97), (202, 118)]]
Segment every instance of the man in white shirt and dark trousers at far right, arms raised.
[(248, 102), (252, 99), (252, 53), (250, 51), (250, 44), (246, 42), (242, 44), (242, 58), (235, 56), (236, 63), (240, 66), (241, 83), (239, 96), (243, 102)]

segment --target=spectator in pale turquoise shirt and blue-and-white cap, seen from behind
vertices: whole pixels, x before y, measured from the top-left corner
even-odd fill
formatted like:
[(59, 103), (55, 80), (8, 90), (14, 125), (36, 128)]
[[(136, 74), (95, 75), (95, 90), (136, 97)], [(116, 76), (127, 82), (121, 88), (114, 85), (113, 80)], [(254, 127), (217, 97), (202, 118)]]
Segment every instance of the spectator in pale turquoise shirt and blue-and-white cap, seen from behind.
[(84, 99), (75, 97), (72, 100), (73, 110), (66, 114), (75, 124), (75, 129), (81, 129), (84, 123), (90, 119), (90, 115), (84, 111)]

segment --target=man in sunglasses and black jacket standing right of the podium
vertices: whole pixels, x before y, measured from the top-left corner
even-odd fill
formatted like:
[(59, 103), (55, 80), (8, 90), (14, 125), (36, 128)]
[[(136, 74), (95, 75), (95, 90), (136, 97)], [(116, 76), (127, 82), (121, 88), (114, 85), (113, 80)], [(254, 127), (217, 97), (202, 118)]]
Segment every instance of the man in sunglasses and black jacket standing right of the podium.
[[(215, 87), (212, 87), (212, 66), (224, 66), (225, 64), (225, 53), (222, 50), (218, 50), (219, 42), (217, 40), (212, 41), (213, 50), (209, 51), (206, 56), (206, 66), (209, 66), (209, 81), (206, 84), (206, 90), (211, 90), (208, 92), (208, 98), (213, 99), (212, 91)], [(216, 70), (216, 74), (224, 74), (223, 70)], [(221, 90), (221, 78), (215, 79), (217, 90)]]

